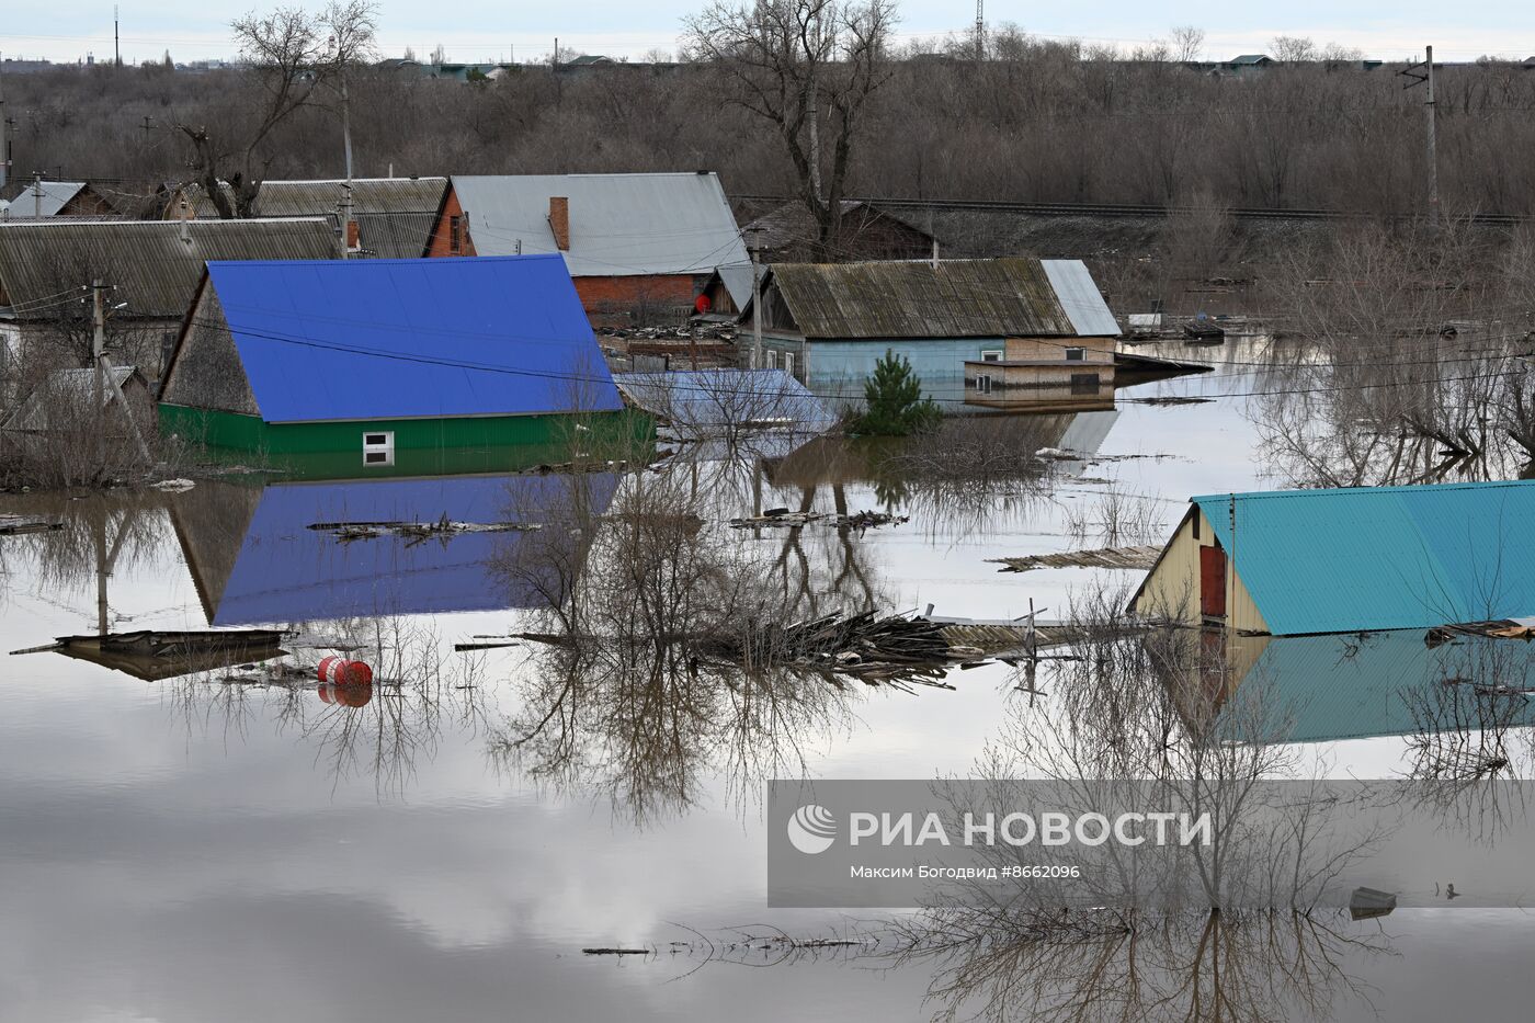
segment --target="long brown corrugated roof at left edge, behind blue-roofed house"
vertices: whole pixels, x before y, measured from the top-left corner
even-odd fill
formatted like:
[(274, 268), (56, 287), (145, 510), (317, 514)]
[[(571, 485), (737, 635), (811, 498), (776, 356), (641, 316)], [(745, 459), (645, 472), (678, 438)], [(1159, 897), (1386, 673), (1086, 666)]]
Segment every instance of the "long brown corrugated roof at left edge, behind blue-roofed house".
[(177, 318), (207, 260), (335, 257), (336, 235), (321, 218), (0, 224), (0, 301), (18, 319), (48, 318), (60, 292), (101, 278), (114, 304), (127, 303), (117, 315)]

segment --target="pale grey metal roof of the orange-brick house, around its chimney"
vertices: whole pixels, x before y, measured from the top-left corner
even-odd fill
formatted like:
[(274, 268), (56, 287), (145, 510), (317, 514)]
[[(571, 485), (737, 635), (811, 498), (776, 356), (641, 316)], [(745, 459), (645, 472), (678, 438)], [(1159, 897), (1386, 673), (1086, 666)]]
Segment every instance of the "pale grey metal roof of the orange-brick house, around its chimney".
[(454, 177), (453, 190), (479, 255), (559, 252), (550, 198), (565, 197), (571, 247), (562, 255), (571, 276), (708, 273), (751, 264), (714, 174)]

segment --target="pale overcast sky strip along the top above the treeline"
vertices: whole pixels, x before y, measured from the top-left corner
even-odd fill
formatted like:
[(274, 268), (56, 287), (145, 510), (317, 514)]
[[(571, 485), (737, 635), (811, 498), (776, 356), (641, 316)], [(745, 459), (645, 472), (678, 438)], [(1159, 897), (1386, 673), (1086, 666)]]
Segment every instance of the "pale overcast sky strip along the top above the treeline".
[[(649, 49), (675, 49), (682, 17), (705, 2), (456, 0), (436, 6), (419, 0), (379, 0), (381, 43), (387, 54), (411, 46), (418, 55), (425, 55), (442, 43), (453, 60), (505, 60), (508, 52), (516, 60), (536, 60), (546, 58), (559, 37), (562, 46), (583, 52), (640, 57)], [(121, 5), (123, 57), (129, 61), (158, 58), (167, 49), (177, 60), (232, 55), (230, 18), (276, 3), (158, 0), (150, 5), (130, 0)], [(77, 60), (87, 51), (98, 58), (112, 55), (111, 3), (51, 0), (8, 6), (0, 28), (0, 52), (6, 57)], [(1279, 6), (1230, 0), (1157, 5), (1102, 0), (1091, 6), (987, 0), (985, 14), (992, 25), (1015, 22), (1039, 35), (1124, 48), (1165, 35), (1173, 25), (1196, 25), (1207, 32), (1208, 58), (1262, 52), (1274, 35), (1308, 35), (1319, 45), (1337, 41), (1386, 60), (1420, 51), (1424, 43), (1434, 43), (1435, 57), (1443, 60), (1535, 54), (1535, 3), (1529, 0), (1289, 0), (1283, 11)], [(973, 22), (970, 0), (901, 3), (903, 38), (961, 32)]]

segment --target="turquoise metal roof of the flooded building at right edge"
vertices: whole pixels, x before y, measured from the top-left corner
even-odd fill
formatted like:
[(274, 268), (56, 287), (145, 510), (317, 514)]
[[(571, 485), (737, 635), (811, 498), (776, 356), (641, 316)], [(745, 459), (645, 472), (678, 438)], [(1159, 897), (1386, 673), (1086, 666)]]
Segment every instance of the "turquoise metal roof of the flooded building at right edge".
[(1535, 481), (1193, 502), (1276, 636), (1535, 614)]

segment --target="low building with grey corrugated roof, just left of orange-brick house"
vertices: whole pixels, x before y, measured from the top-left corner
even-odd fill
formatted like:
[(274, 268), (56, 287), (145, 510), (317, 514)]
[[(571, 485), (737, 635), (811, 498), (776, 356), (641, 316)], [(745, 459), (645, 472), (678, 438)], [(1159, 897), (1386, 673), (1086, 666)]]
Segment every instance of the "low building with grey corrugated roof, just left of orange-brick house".
[[(341, 207), (347, 181), (267, 180), (256, 194), (256, 217), (324, 217), (341, 238)], [(425, 253), (447, 178), (353, 178), (352, 221), (356, 238), (353, 255), (381, 260), (414, 260)], [(218, 207), (196, 184), (181, 186), (164, 197), (166, 220), (216, 218)]]

